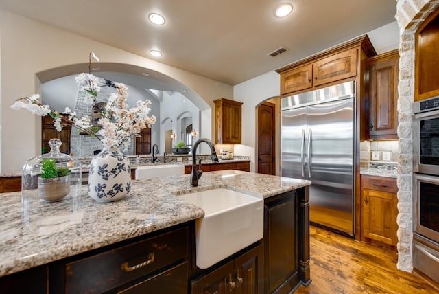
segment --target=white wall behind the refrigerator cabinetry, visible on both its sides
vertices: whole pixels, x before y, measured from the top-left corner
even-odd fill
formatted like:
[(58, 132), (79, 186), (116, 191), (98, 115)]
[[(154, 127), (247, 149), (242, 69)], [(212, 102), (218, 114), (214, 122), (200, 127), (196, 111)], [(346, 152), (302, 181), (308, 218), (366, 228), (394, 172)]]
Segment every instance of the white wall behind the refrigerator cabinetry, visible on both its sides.
[[(378, 54), (388, 52), (399, 47), (399, 29), (395, 22), (367, 32), (372, 45)], [(294, 63), (297, 60), (291, 60)], [(256, 142), (256, 106), (261, 102), (280, 94), (280, 77), (276, 71), (270, 71), (233, 88), (233, 97), (242, 104), (242, 145), (235, 145), (235, 154), (251, 155), (250, 170), (255, 170), (257, 158), (254, 142)], [(245, 131), (244, 131), (245, 130)]]

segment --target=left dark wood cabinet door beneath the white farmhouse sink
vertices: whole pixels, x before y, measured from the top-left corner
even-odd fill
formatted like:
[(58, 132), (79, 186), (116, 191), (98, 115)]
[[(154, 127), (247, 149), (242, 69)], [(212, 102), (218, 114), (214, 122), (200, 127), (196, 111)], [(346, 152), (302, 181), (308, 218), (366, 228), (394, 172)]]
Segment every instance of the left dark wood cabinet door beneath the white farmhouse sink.
[(233, 293), (229, 282), (233, 283), (233, 261), (224, 264), (202, 278), (191, 282), (191, 294)]

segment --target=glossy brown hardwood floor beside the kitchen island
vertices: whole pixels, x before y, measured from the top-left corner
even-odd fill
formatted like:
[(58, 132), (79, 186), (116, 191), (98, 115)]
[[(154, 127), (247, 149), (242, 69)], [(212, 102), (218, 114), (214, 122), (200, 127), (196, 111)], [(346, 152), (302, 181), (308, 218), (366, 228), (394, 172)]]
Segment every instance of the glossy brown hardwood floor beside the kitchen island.
[(310, 231), (312, 282), (295, 293), (439, 293), (433, 280), (397, 270), (396, 251), (318, 227), (311, 226)]

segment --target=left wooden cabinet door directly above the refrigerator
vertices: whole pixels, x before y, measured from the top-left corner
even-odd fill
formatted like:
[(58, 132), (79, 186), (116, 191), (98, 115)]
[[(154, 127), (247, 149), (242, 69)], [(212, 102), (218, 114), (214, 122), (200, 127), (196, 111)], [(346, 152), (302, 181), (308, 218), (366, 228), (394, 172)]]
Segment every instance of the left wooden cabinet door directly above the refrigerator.
[(304, 65), (281, 74), (282, 93), (292, 93), (313, 86), (313, 65)]

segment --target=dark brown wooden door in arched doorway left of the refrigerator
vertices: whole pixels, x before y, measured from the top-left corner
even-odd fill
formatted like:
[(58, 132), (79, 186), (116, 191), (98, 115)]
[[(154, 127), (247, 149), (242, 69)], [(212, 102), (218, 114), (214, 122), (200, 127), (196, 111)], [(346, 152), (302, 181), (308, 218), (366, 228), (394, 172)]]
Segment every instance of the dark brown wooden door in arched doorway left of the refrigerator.
[(274, 170), (274, 104), (258, 106), (258, 172), (276, 174)]

